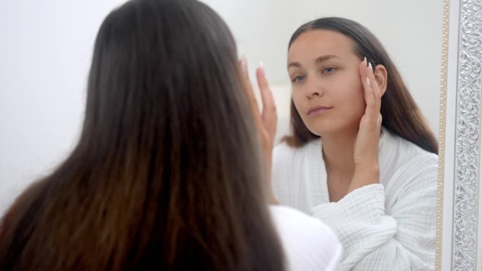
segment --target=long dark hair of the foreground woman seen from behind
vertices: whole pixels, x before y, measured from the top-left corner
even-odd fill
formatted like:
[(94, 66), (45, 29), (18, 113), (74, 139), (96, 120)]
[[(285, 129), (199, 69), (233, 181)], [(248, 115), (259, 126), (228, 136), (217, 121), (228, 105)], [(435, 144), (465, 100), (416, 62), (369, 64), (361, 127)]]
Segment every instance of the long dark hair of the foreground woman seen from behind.
[(0, 223), (0, 270), (283, 270), (223, 20), (134, 0), (94, 46), (78, 145)]

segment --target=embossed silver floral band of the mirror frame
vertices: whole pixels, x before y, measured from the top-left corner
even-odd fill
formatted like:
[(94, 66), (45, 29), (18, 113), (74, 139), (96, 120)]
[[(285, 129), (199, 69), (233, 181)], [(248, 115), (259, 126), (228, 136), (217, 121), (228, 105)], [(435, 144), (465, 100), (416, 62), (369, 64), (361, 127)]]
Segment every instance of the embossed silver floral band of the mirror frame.
[(476, 270), (481, 53), (482, 0), (462, 0), (457, 69), (452, 270)]

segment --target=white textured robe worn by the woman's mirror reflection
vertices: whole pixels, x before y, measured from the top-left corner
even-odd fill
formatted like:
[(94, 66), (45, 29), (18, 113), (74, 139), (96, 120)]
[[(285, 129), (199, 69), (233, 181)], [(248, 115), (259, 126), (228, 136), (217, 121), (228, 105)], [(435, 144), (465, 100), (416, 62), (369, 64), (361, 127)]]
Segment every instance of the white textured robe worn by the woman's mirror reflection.
[(330, 203), (321, 140), (273, 153), (280, 202), (325, 222), (343, 246), (340, 270), (434, 270), (438, 156), (383, 129), (381, 184)]

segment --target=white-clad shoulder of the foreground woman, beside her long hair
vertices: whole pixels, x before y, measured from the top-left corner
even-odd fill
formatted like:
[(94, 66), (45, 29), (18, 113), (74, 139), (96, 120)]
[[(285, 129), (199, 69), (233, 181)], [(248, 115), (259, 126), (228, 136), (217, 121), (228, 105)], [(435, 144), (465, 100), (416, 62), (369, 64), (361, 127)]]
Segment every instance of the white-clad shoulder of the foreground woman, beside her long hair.
[(342, 246), (320, 220), (286, 206), (270, 206), (287, 260), (287, 271), (338, 270)]

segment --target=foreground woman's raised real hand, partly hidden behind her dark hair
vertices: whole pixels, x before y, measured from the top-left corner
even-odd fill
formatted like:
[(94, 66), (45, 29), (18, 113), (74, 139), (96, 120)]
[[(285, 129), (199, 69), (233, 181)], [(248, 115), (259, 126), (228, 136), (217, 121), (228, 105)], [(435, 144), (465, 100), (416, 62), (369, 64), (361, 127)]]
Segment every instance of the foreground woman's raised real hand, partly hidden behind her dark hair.
[(247, 72), (247, 61), (245, 57), (240, 61), (242, 69), (242, 80), (244, 89), (247, 95), (249, 106), (254, 116), (254, 122), (256, 123), (259, 138), (263, 146), (264, 154), (264, 170), (266, 174), (266, 192), (268, 196), (268, 203), (279, 204), (278, 198), (273, 193), (273, 186), (271, 184), (271, 163), (273, 158), (273, 145), (274, 137), (276, 134), (276, 122), (278, 115), (276, 113), (276, 104), (273, 99), (273, 94), (269, 88), (268, 81), (264, 73), (264, 67), (262, 64), (256, 70), (256, 78), (258, 82), (259, 92), (261, 93), (261, 101), (263, 107), (261, 113), (256, 98), (254, 97), (254, 90), (251, 82), (249, 81), (249, 75)]

